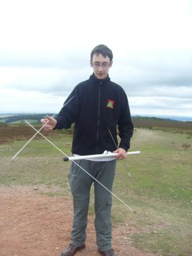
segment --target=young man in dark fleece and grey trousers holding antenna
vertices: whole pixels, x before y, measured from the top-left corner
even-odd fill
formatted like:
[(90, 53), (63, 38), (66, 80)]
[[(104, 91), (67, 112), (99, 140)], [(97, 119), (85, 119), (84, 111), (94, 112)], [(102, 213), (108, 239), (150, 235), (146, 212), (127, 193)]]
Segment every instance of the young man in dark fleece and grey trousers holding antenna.
[[(133, 135), (127, 96), (122, 87), (110, 81), (109, 69), (113, 64), (113, 53), (105, 45), (91, 51), (90, 65), (93, 74), (87, 81), (79, 83), (61, 109), (57, 118), (42, 119), (44, 129), (67, 129), (74, 122), (73, 155), (102, 154), (103, 151), (118, 153), (124, 159)], [(117, 126), (121, 141), (118, 145)], [(116, 160), (106, 158), (77, 161), (95, 179), (110, 191), (115, 177)], [(73, 195), (73, 227), (71, 243), (61, 256), (73, 256), (85, 248), (87, 214), (90, 188), (94, 183), (95, 232), (98, 251), (101, 255), (115, 255), (111, 245), (111, 193), (90, 177), (74, 162), (69, 171), (70, 189)]]

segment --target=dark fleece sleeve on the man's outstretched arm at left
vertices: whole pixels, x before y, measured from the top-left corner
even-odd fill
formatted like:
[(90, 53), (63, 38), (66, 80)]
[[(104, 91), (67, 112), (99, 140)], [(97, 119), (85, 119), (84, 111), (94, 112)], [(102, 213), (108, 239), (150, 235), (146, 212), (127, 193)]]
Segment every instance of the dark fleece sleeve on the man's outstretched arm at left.
[(55, 118), (57, 120), (57, 125), (54, 129), (70, 128), (72, 123), (77, 121), (78, 109), (78, 95), (76, 86), (64, 102), (62, 109)]

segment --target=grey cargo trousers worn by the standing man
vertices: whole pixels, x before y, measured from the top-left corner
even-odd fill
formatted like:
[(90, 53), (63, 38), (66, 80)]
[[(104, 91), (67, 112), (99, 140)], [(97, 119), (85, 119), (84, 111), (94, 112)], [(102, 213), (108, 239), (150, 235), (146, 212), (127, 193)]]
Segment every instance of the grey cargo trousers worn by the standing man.
[[(76, 161), (79, 166), (90, 173), (110, 191), (115, 177), (116, 160), (96, 162), (89, 160)], [(71, 243), (82, 246), (86, 239), (87, 214), (89, 210), (90, 189), (94, 183), (95, 195), (95, 232), (99, 250), (106, 251), (111, 245), (111, 205), (112, 195), (89, 174), (85, 173), (75, 163), (71, 163), (69, 183), (73, 195), (73, 227), (71, 230)]]

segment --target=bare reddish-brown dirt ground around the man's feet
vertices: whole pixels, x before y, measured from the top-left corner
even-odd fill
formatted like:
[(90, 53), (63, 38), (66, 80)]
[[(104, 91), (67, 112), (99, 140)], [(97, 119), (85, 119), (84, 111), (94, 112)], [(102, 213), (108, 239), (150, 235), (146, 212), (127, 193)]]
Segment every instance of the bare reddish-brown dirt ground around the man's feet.
[[(0, 255), (57, 256), (70, 242), (73, 207), (70, 199), (48, 197), (43, 187), (0, 187)], [(133, 247), (133, 227), (113, 229), (113, 247), (118, 256), (149, 256)], [(99, 255), (94, 220), (89, 217), (86, 249), (76, 255)]]

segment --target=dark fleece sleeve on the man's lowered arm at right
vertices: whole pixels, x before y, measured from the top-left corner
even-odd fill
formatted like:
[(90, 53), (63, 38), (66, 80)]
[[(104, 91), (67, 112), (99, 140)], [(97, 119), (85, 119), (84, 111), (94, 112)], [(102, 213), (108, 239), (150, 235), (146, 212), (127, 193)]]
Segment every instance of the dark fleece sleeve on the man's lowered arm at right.
[(118, 122), (119, 137), (121, 141), (119, 147), (122, 147), (126, 151), (130, 148), (130, 139), (133, 136), (133, 123), (131, 121), (131, 114), (129, 109), (129, 103), (125, 91), (122, 93), (121, 98), (121, 114)]

